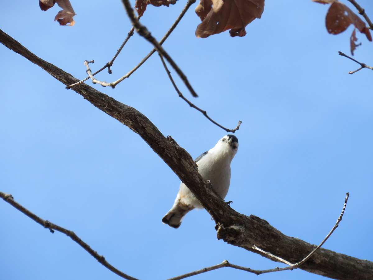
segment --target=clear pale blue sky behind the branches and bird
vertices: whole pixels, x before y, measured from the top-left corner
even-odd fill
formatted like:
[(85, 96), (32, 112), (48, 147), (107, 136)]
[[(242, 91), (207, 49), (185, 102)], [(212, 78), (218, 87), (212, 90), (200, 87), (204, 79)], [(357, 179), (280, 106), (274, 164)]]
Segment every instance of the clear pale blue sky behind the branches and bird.
[[(372, 2), (359, 3), (373, 18)], [(184, 4), (148, 7), (141, 22), (160, 39)], [(94, 59), (95, 70), (112, 59), (131, 28), (121, 1), (72, 1), (74, 27), (53, 22), (59, 7), (42, 12), (37, 1), (0, 6), (4, 32), (76, 78), (86, 76), (84, 60)], [(358, 65), (338, 55), (349, 54), (352, 28), (328, 34), (327, 5), (266, 1), (245, 37), (224, 32), (201, 39), (194, 35), (195, 6), (163, 46), (199, 94), (192, 99), (173, 72), (186, 97), (226, 127), (242, 121), (226, 200), (284, 234), (319, 244), (350, 192), (324, 248), (373, 261), (373, 73), (349, 75)], [(372, 43), (357, 37), (363, 44), (354, 58), (373, 65)], [(116, 80), (151, 49), (135, 34), (113, 74), (97, 78)], [(2, 45), (0, 57), (1, 192), (73, 230), (139, 279), (166, 279), (224, 259), (254, 269), (279, 265), (217, 240), (205, 210), (188, 213), (177, 230), (162, 224), (179, 187), (162, 159), (38, 66)], [(178, 97), (157, 55), (115, 89), (93, 87), (144, 113), (193, 158), (226, 134)], [(5, 202), (0, 213), (3, 279), (119, 279), (64, 234), (51, 234)], [(255, 276), (222, 268), (192, 279), (227, 277), (323, 278), (301, 270)]]

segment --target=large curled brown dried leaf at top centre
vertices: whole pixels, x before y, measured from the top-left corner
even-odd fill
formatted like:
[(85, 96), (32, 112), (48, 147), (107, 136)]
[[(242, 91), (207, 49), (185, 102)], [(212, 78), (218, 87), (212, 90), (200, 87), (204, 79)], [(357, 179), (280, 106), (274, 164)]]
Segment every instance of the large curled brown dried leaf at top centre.
[(195, 35), (206, 38), (228, 29), (232, 37), (243, 37), (245, 27), (264, 10), (264, 0), (200, 0), (195, 12), (201, 19)]

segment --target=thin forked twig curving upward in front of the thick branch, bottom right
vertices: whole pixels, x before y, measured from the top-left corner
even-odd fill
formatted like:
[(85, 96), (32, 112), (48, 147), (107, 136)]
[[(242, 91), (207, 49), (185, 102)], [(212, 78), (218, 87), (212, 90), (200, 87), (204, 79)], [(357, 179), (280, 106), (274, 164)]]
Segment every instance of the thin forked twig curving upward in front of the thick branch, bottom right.
[(313, 256), (313, 254), (316, 253), (317, 250), (319, 250), (321, 248), (321, 246), (330, 237), (330, 235), (333, 233), (333, 231), (338, 227), (338, 224), (342, 220), (343, 214), (345, 212), (345, 208), (346, 208), (346, 204), (347, 204), (347, 200), (348, 200), (349, 196), (350, 196), (350, 194), (346, 193), (346, 198), (345, 198), (345, 203), (343, 205), (342, 213), (341, 213), (341, 215), (339, 215), (338, 220), (337, 220), (336, 224), (334, 225), (334, 227), (332, 228), (332, 230), (330, 230), (330, 232), (327, 234), (327, 236), (324, 238), (324, 240), (320, 243), (319, 246), (317, 246), (311, 253), (309, 253), (302, 261), (297, 262), (296, 264), (292, 264), (291, 262), (288, 262), (285, 259), (282, 259), (282, 258), (280, 258), (278, 256), (275, 256), (275, 255), (269, 253), (269, 252), (266, 252), (266, 251), (264, 251), (264, 250), (262, 250), (262, 249), (260, 249), (260, 248), (258, 248), (257, 246), (254, 245), (253, 246), (254, 250), (260, 252), (263, 255), (266, 255), (267, 257), (275, 259), (276, 261), (283, 262), (283, 263), (287, 264), (288, 266), (287, 267), (275, 267), (275, 268), (271, 268), (271, 269), (267, 269), (267, 270), (254, 270), (254, 269), (251, 269), (251, 268), (248, 268), (248, 267), (241, 267), (239, 265), (230, 264), (225, 259), (220, 264), (216, 264), (216, 265), (213, 265), (211, 267), (205, 267), (205, 268), (202, 268), (200, 270), (196, 270), (196, 271), (192, 271), (192, 272), (189, 272), (189, 273), (185, 273), (185, 274), (182, 274), (182, 275), (179, 275), (179, 276), (167, 279), (167, 280), (184, 279), (186, 277), (194, 276), (194, 275), (197, 275), (197, 274), (201, 274), (201, 273), (204, 273), (204, 272), (207, 272), (207, 271), (211, 271), (211, 270), (215, 270), (215, 269), (222, 268), (222, 267), (232, 267), (232, 268), (244, 270), (244, 271), (247, 271), (247, 272), (251, 272), (251, 273), (254, 273), (254, 274), (257, 274), (257, 275), (263, 274), (263, 273), (275, 272), (275, 271), (283, 271), (283, 270), (293, 270), (293, 269), (296, 269), (296, 268), (300, 267), (304, 262), (306, 262), (309, 258), (311, 258), (311, 256)]

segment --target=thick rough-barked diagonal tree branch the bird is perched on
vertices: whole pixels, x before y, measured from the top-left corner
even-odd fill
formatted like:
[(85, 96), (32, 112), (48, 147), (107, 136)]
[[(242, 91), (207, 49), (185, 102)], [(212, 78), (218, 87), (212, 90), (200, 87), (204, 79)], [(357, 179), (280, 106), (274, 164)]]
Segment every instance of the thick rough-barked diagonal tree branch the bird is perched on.
[[(62, 69), (35, 56), (1, 30), (0, 42), (37, 64), (63, 84), (69, 85), (78, 81)], [(286, 236), (261, 218), (253, 215), (248, 217), (234, 211), (204, 181), (191, 156), (171, 137), (166, 139), (157, 127), (136, 109), (120, 103), (84, 83), (76, 85), (73, 90), (101, 111), (128, 126), (148, 143), (181, 181), (191, 189), (214, 218), (218, 239), (257, 253), (252, 248), (253, 245), (256, 245), (292, 263), (300, 261), (314, 249), (314, 245)], [(266, 257), (265, 254), (263, 256)], [(372, 279), (373, 262), (320, 248), (300, 269), (333, 279), (370, 280)]]

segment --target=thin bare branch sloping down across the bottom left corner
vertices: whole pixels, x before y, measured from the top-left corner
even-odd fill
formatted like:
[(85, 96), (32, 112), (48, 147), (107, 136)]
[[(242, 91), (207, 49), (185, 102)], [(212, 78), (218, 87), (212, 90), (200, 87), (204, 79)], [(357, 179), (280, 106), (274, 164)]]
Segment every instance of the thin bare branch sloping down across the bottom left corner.
[(57, 230), (59, 232), (65, 233), (67, 236), (69, 236), (72, 240), (74, 240), (76, 243), (78, 243), (85, 251), (90, 253), (95, 259), (97, 259), (100, 264), (102, 264), (104, 267), (106, 267), (108, 270), (112, 271), (113, 273), (117, 274), (118, 276), (128, 279), (128, 280), (137, 280), (134, 277), (131, 277), (122, 271), (118, 270), (117, 268), (113, 267), (109, 262), (106, 261), (104, 256), (98, 255), (96, 251), (94, 251), (87, 243), (85, 243), (83, 240), (81, 240), (73, 231), (67, 230), (66, 228), (60, 227), (59, 225), (53, 224), (50, 221), (43, 220), (42, 218), (38, 217), (22, 205), (20, 205), (18, 202), (13, 200), (13, 196), (7, 193), (0, 192), (0, 197), (3, 198), (6, 202), (8, 202), (10, 205), (21, 211), (23, 214), (37, 222), (38, 224), (41, 224), (43, 227), (48, 228), (51, 233), (54, 233), (54, 230)]

